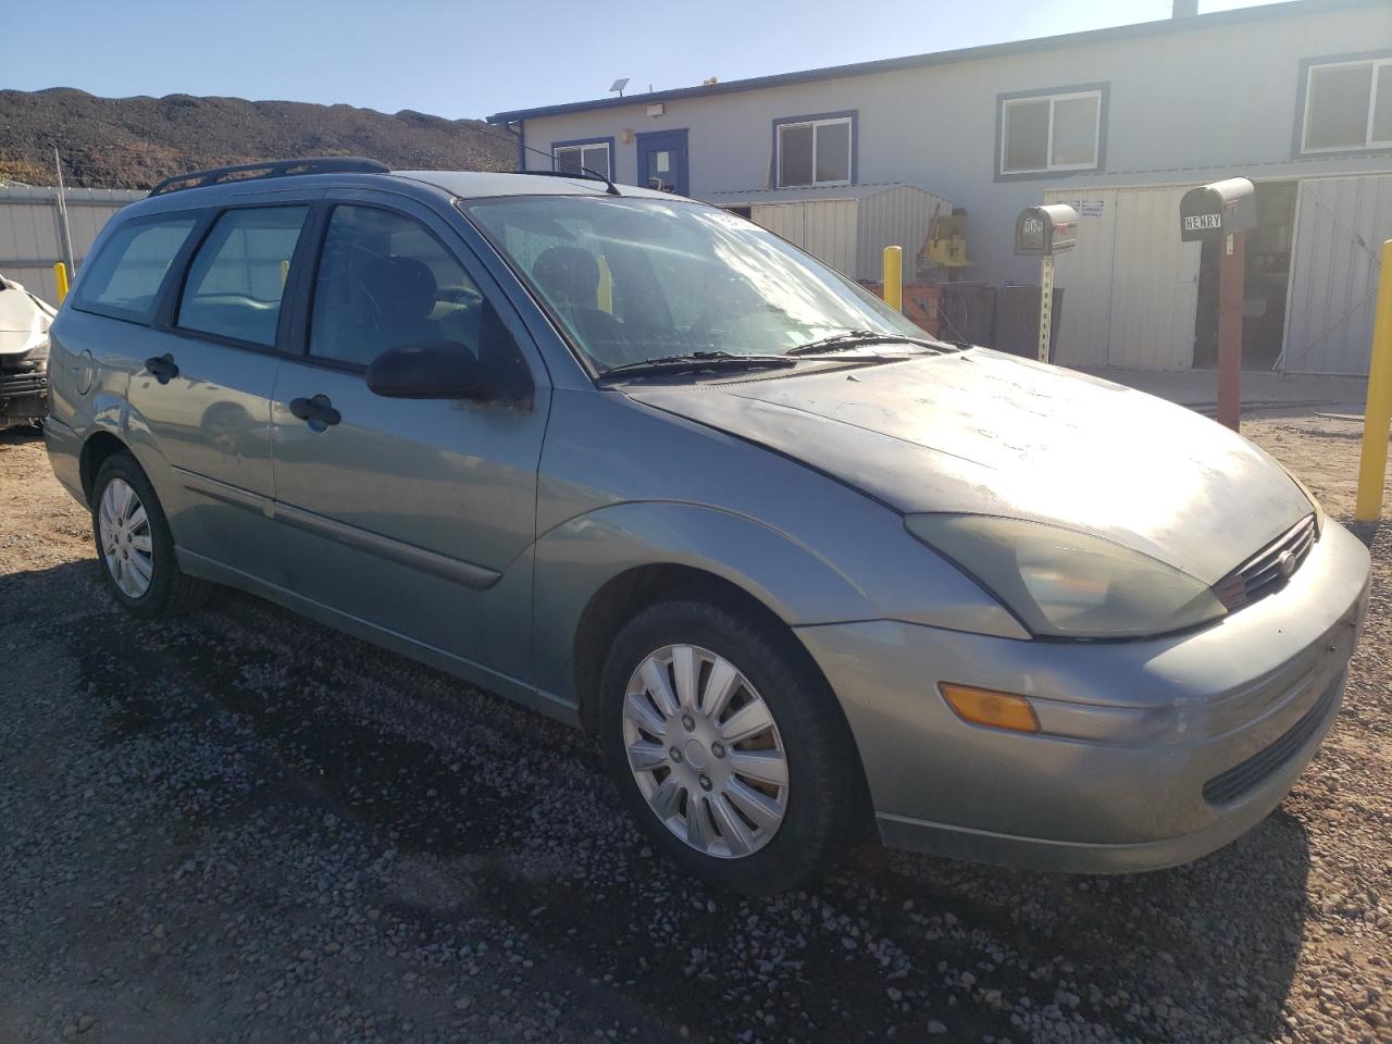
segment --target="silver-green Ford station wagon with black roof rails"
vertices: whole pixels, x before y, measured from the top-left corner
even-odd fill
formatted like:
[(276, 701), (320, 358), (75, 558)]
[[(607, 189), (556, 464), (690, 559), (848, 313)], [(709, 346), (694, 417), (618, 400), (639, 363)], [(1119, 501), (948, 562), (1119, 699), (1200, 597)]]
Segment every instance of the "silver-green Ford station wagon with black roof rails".
[(1240, 436), (587, 175), (173, 178), (95, 245), (50, 388), (131, 612), (239, 587), (589, 729), (738, 891), (871, 828), (1203, 856), (1314, 756), (1367, 603), (1363, 544)]

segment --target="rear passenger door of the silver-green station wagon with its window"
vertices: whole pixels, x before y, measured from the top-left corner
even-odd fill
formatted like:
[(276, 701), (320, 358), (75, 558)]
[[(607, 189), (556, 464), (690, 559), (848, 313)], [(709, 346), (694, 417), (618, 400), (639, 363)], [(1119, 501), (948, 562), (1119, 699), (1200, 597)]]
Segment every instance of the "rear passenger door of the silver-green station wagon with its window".
[(180, 553), (270, 582), (283, 579), (270, 394), (308, 214), (301, 202), (202, 216), (182, 278), (139, 338), (128, 391), (132, 437), (157, 457), (148, 470)]

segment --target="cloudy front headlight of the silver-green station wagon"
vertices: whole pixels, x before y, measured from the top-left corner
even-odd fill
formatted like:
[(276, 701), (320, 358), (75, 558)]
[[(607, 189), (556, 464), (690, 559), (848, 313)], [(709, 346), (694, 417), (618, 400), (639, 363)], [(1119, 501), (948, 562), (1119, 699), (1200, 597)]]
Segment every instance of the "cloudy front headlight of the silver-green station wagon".
[(987, 515), (910, 515), (905, 526), (1047, 638), (1140, 638), (1226, 610), (1179, 569), (1062, 526)]

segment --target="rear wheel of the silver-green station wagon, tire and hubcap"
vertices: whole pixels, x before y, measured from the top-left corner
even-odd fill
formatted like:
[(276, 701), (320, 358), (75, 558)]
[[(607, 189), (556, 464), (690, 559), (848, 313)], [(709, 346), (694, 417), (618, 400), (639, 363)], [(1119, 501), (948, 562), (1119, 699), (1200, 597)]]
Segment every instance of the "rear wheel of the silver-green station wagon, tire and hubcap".
[(174, 617), (207, 600), (212, 587), (185, 576), (155, 487), (128, 454), (109, 457), (92, 486), (92, 535), (107, 587), (141, 617)]

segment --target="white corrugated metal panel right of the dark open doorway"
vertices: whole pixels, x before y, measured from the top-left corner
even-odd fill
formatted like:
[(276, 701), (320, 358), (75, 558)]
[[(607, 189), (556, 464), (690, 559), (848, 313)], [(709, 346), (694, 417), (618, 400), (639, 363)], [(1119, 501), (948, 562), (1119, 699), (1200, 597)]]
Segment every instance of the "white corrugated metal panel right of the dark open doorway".
[(1392, 174), (1300, 182), (1281, 369), (1367, 374), (1385, 239)]

